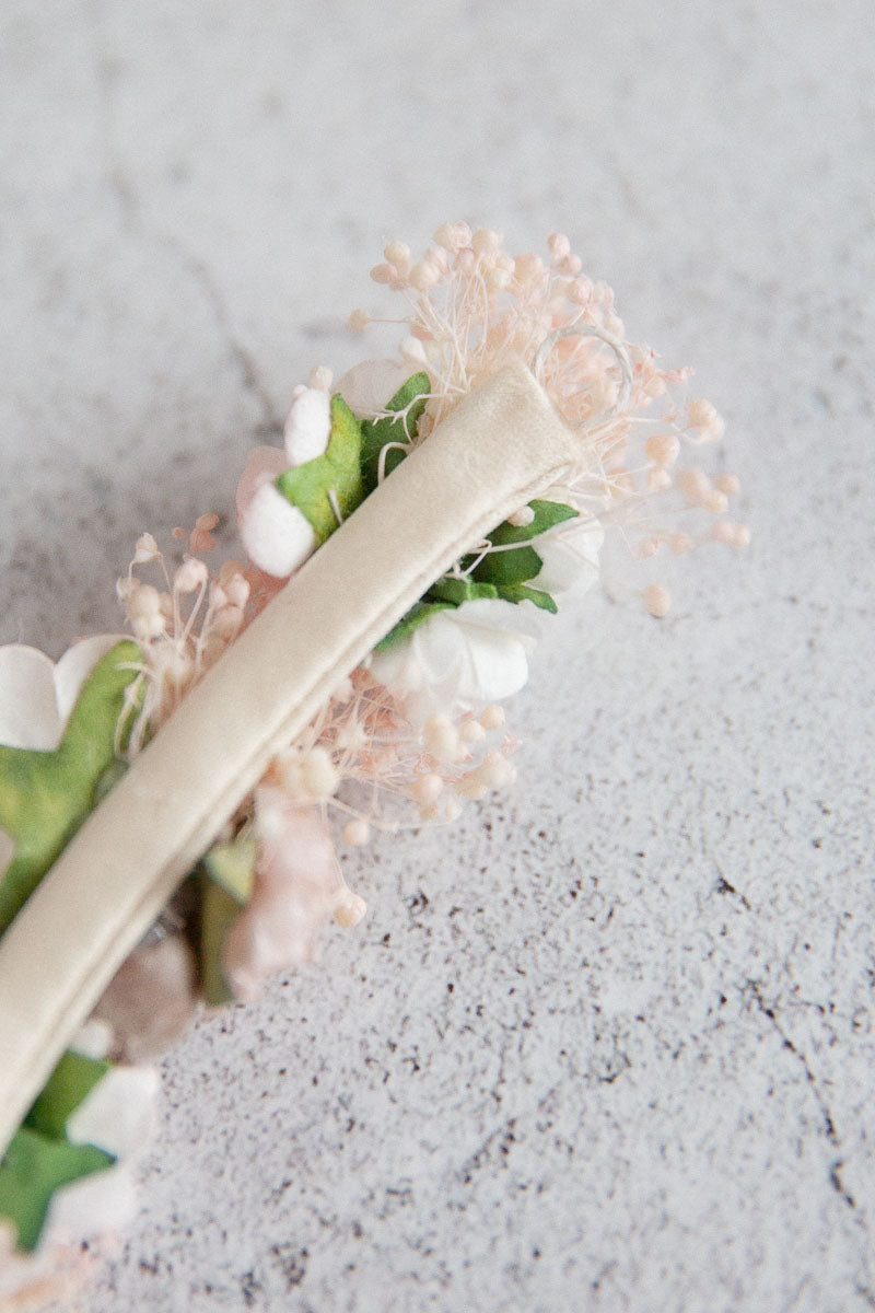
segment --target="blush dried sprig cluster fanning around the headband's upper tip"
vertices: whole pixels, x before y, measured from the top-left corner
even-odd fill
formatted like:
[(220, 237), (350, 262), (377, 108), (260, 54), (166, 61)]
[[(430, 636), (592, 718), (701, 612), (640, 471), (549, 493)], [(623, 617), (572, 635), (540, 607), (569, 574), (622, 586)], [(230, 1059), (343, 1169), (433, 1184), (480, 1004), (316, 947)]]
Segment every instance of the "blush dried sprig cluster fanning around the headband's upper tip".
[[(649, 347), (626, 341), (613, 290), (581, 272), (564, 234), (548, 239), (544, 257), (512, 256), (491, 228), (443, 223), (421, 260), (400, 242), (383, 255), (371, 277), (404, 298), (400, 323), (409, 335), (401, 356), (426, 369), (432, 383), (420, 441), (472, 387), (522, 357), (567, 423), (581, 429), (577, 467), (556, 490), (581, 515), (619, 529), (640, 561), (708, 541), (746, 546), (746, 527), (727, 515), (739, 481), (711, 479), (693, 457), (723, 437), (722, 418), (707, 400), (676, 399), (689, 370), (661, 369)], [(349, 320), (356, 331), (375, 322), (366, 310)], [(600, 423), (601, 415), (610, 418)], [(664, 584), (653, 580), (643, 593), (652, 614), (665, 614)]]

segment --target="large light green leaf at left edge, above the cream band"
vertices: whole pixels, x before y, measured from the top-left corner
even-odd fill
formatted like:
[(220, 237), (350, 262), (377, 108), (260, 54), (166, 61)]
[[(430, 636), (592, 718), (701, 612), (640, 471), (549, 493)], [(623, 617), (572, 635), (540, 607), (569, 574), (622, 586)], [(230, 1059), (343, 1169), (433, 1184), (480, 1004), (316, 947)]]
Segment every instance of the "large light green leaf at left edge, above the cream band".
[(97, 663), (54, 752), (0, 746), (0, 830), (16, 844), (0, 877), (0, 935), (94, 807), (117, 762), (119, 720), (136, 679), (130, 667), (140, 660), (136, 643), (125, 641)]

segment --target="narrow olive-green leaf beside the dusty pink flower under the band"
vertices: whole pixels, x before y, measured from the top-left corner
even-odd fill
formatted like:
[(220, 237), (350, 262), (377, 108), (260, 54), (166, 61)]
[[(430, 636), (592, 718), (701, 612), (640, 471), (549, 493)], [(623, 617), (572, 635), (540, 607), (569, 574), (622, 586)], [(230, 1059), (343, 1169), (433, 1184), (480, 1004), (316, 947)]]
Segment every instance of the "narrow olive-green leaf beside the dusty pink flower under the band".
[(252, 894), (256, 842), (216, 843), (203, 857), (202, 867), (201, 987), (210, 1007), (222, 1007), (234, 1002), (224, 978), (224, 941)]

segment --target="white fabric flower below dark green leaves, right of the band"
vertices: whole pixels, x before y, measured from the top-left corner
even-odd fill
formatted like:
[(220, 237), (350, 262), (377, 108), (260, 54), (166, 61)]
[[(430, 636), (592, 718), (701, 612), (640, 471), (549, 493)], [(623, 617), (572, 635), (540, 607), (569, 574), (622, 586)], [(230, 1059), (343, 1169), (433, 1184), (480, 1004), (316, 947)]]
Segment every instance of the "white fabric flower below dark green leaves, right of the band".
[(455, 717), (518, 692), (538, 632), (530, 605), (480, 597), (434, 612), (374, 653), (370, 670), (411, 722), (424, 725), (430, 716)]

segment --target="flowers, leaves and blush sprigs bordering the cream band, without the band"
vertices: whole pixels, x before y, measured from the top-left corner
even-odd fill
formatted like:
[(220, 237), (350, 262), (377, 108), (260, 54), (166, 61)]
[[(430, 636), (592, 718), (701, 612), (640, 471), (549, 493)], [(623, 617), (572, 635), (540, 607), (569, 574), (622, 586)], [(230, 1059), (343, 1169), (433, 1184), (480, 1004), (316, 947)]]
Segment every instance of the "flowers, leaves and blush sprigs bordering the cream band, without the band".
[[(392, 242), (371, 277), (404, 298), (405, 314), (390, 320), (404, 326), (399, 355), (336, 383), (317, 368), (294, 389), (283, 445), (251, 452), (237, 486), (247, 561), (210, 570), (215, 515), (173, 530), (169, 558), (143, 533), (118, 582), (130, 633), (81, 639), (56, 664), (31, 647), (0, 649), (0, 935), (194, 688), (359, 507), (392, 481), (400, 488), (408, 462), (405, 488), (428, 474), (429, 499), (450, 495), (441, 466), (416, 453), (449, 432), (454, 412), (464, 436), (464, 407), (522, 362), (573, 435), (569, 458), (537, 496), (463, 541), (272, 751), (89, 1020), (50, 1056), (42, 1090), (24, 1091), (28, 1111), (0, 1163), (0, 1301), (56, 1291), (91, 1260), (79, 1239), (130, 1209), (130, 1163), (157, 1090), (148, 1062), (197, 1008), (257, 997), (268, 977), (315, 956), (328, 922), (363, 916), (336, 842), (445, 825), (513, 783), (519, 741), (501, 704), (525, 684), (548, 617), (602, 578), (606, 538), (626, 545), (630, 572), (703, 542), (748, 541), (727, 516), (735, 477), (690, 462), (723, 436), (720, 418), (678, 399), (686, 370), (662, 370), (624, 340), (610, 288), (581, 273), (567, 238), (550, 238), (547, 259), (514, 257), (499, 234), (447, 223), (417, 263)], [(371, 322), (350, 316), (356, 331)], [(516, 424), (525, 453), (525, 412), (510, 414), (506, 441)], [(454, 507), (442, 511), (451, 520)], [(331, 578), (325, 587), (331, 612)], [(666, 613), (659, 578), (640, 592), (652, 616)]]

